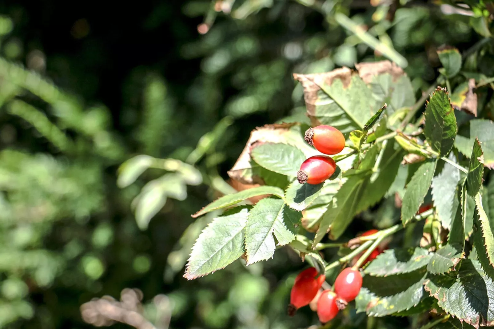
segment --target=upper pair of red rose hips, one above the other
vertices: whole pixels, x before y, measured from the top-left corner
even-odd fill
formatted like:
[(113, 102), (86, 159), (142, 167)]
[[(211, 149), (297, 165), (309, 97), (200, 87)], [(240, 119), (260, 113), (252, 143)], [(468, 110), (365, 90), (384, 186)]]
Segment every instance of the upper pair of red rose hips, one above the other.
[[(305, 131), (305, 140), (324, 154), (340, 153), (345, 147), (345, 137), (338, 129), (329, 125), (318, 125)], [(336, 163), (328, 156), (313, 156), (300, 166), (297, 180), (300, 184), (321, 184), (332, 176)]]

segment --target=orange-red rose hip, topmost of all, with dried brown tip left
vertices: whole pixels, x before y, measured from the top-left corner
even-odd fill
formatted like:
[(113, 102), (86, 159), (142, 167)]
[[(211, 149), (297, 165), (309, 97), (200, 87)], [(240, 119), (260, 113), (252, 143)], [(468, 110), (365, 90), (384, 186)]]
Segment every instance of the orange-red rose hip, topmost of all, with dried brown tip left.
[(337, 154), (345, 147), (345, 137), (341, 131), (325, 124), (307, 129), (305, 140), (324, 154)]

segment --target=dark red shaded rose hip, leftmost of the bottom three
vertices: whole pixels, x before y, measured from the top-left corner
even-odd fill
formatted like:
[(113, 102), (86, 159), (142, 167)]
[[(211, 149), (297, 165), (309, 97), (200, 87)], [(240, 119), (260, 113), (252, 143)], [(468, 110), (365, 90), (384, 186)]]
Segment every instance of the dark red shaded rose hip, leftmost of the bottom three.
[(293, 316), (297, 309), (309, 305), (316, 297), (324, 280), (326, 280), (326, 276), (324, 274), (319, 275), (319, 272), (314, 267), (309, 267), (300, 272), (291, 288), (288, 315)]

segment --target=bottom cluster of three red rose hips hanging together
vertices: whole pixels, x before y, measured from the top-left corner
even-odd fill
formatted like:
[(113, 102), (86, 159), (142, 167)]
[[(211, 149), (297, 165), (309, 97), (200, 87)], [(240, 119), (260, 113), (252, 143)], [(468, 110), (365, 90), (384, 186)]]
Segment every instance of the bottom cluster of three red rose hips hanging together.
[(325, 324), (334, 319), (348, 302), (354, 300), (362, 288), (362, 275), (353, 267), (345, 268), (336, 277), (334, 291), (326, 289), (318, 293), (325, 279), (314, 267), (300, 272), (291, 288), (288, 314), (293, 316), (300, 307), (317, 302), (317, 315)]

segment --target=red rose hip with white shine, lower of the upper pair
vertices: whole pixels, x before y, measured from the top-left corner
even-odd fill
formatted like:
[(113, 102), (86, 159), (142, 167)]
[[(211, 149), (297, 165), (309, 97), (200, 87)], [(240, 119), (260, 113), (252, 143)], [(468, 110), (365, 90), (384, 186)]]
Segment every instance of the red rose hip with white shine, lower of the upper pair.
[(336, 170), (336, 163), (331, 157), (313, 156), (305, 160), (297, 173), (300, 184), (321, 184), (332, 176)]

